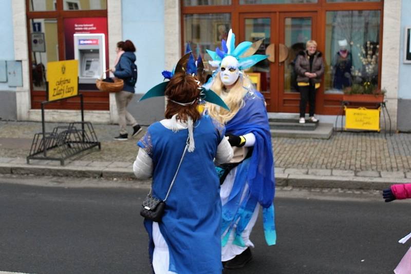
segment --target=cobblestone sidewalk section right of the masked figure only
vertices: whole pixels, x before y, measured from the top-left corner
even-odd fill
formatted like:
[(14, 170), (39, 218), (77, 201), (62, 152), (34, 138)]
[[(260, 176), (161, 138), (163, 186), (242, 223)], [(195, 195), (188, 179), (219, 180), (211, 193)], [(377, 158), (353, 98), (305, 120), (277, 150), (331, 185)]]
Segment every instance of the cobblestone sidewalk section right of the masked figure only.
[(411, 134), (338, 132), (329, 140), (274, 138), (275, 166), (340, 170), (411, 170)]

